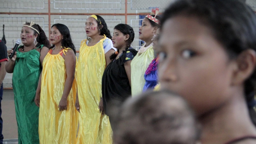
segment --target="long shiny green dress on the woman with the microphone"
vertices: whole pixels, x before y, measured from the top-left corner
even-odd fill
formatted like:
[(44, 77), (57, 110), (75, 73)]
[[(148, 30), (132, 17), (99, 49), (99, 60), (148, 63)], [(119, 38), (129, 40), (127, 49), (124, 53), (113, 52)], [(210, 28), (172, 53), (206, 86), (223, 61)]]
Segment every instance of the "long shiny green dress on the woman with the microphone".
[(43, 46), (42, 44), (37, 44), (35, 49), (28, 52), (17, 50), (17, 59), (12, 75), (12, 86), (19, 144), (39, 144), (39, 108), (34, 100), (38, 79), (42, 70), (39, 61), (40, 52), (37, 49), (41, 49)]

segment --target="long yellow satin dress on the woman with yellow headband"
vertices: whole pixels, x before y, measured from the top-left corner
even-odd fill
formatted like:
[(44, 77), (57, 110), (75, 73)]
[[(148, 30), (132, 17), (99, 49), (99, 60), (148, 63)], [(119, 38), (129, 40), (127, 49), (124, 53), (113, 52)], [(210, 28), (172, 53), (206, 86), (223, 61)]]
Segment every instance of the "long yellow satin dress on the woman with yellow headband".
[(87, 46), (81, 42), (77, 64), (77, 92), (80, 104), (77, 144), (112, 144), (108, 116), (99, 110), (101, 79), (106, 67), (103, 41)]

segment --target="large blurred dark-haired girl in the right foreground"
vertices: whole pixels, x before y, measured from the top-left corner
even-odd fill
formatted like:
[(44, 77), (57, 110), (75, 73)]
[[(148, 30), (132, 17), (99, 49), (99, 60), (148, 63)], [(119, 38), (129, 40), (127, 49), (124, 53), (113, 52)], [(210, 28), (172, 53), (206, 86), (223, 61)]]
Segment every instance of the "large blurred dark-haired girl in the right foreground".
[(195, 110), (201, 142), (255, 144), (255, 12), (240, 0), (179, 0), (161, 24), (160, 87)]

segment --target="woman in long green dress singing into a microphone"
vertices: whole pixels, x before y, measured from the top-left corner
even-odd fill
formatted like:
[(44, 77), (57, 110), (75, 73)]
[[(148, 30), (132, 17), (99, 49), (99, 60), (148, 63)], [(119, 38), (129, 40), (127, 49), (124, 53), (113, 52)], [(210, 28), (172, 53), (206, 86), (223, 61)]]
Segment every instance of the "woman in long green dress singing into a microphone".
[[(50, 43), (44, 30), (32, 21), (23, 25), (20, 38), (23, 45), (19, 46), (5, 68), (6, 72), (13, 73), (12, 86), (19, 144), (39, 144), (39, 108), (34, 99), (42, 70), (39, 58), (43, 56), (40, 56), (40, 52), (48, 51)], [(8, 55), (12, 52), (13, 50), (8, 51)]]

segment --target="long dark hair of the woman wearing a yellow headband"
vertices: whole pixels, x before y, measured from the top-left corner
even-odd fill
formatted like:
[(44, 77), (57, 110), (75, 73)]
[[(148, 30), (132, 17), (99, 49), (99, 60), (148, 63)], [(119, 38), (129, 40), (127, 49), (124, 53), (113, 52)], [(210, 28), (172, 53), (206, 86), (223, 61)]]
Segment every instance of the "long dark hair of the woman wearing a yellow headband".
[[(112, 39), (112, 36), (110, 34), (110, 31), (108, 30), (108, 26), (105, 20), (99, 15), (96, 15), (96, 16), (97, 16), (97, 24), (98, 24), (97, 29), (99, 29), (100, 31), (99, 34), (101, 36), (106, 35), (108, 38)], [(101, 28), (101, 25), (103, 26), (102, 28)]]

